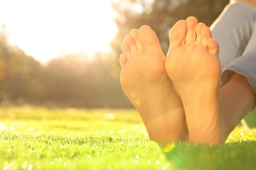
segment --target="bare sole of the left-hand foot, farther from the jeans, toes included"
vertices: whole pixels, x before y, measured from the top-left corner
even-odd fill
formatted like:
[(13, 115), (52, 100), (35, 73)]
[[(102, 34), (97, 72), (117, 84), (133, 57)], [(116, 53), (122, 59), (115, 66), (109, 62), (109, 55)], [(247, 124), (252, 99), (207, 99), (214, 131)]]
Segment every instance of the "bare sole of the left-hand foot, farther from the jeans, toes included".
[(181, 98), (165, 71), (165, 56), (156, 33), (147, 25), (133, 29), (121, 49), (121, 86), (138, 110), (150, 139), (186, 139)]

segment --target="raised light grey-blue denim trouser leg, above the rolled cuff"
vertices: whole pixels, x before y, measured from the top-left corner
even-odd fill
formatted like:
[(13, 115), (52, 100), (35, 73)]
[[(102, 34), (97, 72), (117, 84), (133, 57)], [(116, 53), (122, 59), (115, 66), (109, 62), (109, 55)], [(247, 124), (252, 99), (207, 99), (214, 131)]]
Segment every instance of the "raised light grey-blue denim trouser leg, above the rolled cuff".
[(244, 52), (252, 34), (256, 10), (246, 3), (229, 4), (211, 25), (213, 38), (219, 42), (222, 68)]

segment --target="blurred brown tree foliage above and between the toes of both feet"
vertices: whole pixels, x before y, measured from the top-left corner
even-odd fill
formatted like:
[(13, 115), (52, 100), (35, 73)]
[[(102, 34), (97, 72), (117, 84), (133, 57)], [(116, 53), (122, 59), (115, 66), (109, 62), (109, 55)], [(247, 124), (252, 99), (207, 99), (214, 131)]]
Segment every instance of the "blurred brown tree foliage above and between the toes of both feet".
[(117, 11), (119, 32), (112, 41), (113, 48), (121, 54), (123, 37), (133, 28), (150, 25), (158, 35), (163, 52), (169, 48), (169, 31), (178, 21), (196, 16), (199, 22), (211, 25), (229, 0), (112, 0)]

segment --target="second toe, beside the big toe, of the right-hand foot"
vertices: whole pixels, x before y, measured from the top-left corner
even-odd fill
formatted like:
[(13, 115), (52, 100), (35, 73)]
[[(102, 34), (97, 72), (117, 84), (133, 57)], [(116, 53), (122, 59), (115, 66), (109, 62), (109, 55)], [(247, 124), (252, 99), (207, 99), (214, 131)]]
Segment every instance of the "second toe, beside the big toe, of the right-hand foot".
[(186, 19), (186, 27), (188, 28), (188, 33), (186, 34), (186, 43), (194, 42), (196, 40), (196, 25), (198, 24), (198, 19), (194, 16), (190, 16)]

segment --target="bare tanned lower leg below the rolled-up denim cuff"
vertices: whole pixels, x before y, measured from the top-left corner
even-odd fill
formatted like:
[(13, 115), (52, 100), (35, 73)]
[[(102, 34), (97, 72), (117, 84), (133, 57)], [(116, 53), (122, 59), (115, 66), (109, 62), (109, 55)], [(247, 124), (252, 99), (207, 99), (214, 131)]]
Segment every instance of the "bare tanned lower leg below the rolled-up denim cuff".
[(221, 97), (226, 132), (230, 133), (246, 114), (253, 109), (256, 95), (247, 78), (235, 73), (221, 88)]

